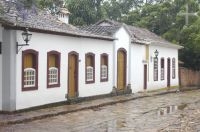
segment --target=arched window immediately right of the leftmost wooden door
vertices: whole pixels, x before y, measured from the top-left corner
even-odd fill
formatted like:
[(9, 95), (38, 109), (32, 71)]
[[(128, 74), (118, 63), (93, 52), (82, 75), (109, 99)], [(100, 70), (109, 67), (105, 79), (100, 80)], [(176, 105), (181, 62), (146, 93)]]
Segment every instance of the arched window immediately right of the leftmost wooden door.
[(85, 82), (95, 82), (95, 55), (93, 53), (85, 55)]

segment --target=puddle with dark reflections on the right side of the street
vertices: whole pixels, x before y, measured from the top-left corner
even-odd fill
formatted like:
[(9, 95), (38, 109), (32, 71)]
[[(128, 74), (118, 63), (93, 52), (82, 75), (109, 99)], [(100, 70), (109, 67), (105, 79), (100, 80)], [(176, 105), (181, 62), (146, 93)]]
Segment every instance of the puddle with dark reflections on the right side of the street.
[(161, 107), (158, 110), (158, 116), (164, 116), (171, 113), (174, 113), (177, 110), (184, 110), (187, 107), (187, 104), (181, 104), (181, 105), (171, 105), (167, 107)]

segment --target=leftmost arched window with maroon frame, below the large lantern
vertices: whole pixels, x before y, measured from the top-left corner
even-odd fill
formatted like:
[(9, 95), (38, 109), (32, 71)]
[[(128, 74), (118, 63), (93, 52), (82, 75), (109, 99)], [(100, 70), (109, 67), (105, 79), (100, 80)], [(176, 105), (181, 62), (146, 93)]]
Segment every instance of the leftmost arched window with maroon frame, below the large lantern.
[(38, 89), (38, 52), (22, 51), (22, 91)]

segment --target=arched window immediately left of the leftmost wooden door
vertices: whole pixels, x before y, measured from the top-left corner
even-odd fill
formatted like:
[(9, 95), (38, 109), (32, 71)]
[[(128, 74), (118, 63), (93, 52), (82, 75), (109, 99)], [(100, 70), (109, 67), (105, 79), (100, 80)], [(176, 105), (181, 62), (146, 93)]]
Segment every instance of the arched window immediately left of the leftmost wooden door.
[(60, 87), (60, 53), (47, 53), (47, 87)]

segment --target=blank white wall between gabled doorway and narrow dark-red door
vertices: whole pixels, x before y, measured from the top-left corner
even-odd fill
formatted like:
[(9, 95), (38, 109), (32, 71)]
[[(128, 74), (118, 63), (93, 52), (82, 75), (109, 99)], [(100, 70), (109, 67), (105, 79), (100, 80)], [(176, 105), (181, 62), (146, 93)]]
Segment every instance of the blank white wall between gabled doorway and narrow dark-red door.
[(144, 86), (145, 45), (131, 44), (131, 85), (132, 92), (142, 91)]

